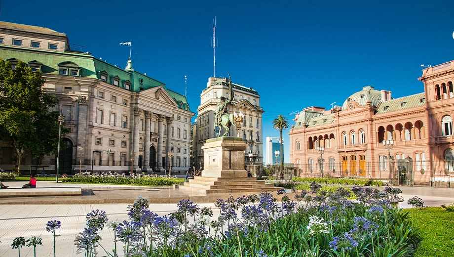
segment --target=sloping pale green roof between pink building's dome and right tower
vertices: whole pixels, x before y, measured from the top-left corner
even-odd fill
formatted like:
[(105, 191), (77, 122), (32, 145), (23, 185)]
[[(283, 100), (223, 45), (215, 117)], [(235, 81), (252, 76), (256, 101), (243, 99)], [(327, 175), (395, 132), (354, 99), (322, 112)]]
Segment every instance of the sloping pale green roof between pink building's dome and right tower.
[(425, 93), (418, 93), (409, 96), (392, 99), (389, 101), (380, 102), (377, 105), (375, 114), (390, 113), (399, 110), (410, 109), (423, 106), (425, 104)]

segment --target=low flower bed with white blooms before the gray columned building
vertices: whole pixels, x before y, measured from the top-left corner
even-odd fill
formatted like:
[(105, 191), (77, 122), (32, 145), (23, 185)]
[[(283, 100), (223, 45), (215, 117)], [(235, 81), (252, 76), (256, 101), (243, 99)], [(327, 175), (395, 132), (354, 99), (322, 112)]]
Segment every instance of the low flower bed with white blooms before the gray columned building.
[(185, 181), (184, 178), (176, 177), (160, 177), (153, 175), (132, 175), (125, 177), (124, 173), (103, 172), (91, 174), (90, 172), (82, 172), (75, 174), (72, 177), (62, 178), (63, 183), (94, 183), (94, 184), (123, 184), (123, 185), (143, 185), (143, 186), (171, 186), (180, 184)]

